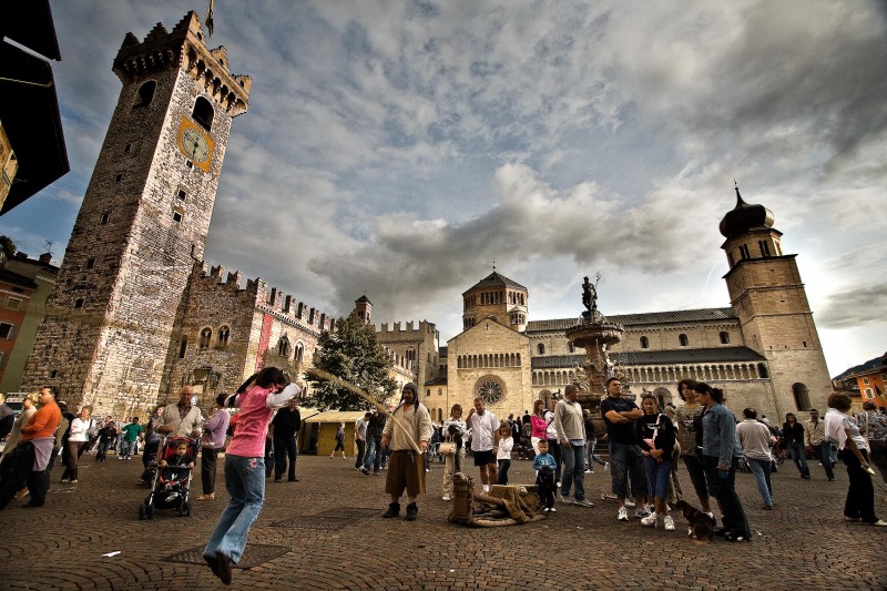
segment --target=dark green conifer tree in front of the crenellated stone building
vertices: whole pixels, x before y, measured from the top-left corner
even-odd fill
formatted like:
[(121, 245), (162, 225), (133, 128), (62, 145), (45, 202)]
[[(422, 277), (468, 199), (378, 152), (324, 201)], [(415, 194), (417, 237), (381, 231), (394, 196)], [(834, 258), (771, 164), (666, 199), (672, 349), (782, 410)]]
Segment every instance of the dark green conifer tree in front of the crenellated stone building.
[[(383, 403), (397, 388), (389, 376), (391, 358), (376, 342), (376, 329), (364, 324), (356, 315), (336, 320), (336, 330), (320, 335), (314, 367), (357, 386), (376, 403)], [(324, 410), (370, 410), (366, 400), (334, 381), (307, 371), (313, 385), (306, 405)]]

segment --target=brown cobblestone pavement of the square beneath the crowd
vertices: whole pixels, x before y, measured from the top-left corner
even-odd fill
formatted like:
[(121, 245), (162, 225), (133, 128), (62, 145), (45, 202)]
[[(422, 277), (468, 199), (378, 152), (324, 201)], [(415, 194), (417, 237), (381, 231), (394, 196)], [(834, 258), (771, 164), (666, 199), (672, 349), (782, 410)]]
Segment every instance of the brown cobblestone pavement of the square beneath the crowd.
[[(218, 589), (198, 562), (226, 502), (195, 501), (190, 517), (156, 511), (139, 520), (146, 489), (134, 485), (141, 458), (81, 461), (80, 482), (59, 482), (48, 505), (0, 511), (0, 589)], [(220, 462), (221, 463), (221, 462)], [(477, 477), (477, 469), (469, 468)], [(847, 475), (828, 482), (785, 465), (773, 476), (777, 507), (761, 509), (750, 473), (740, 495), (754, 531), (751, 543), (700, 544), (677, 531), (618, 522), (601, 501), (609, 473), (585, 476), (594, 508), (559, 503), (549, 519), (524, 526), (466, 528), (446, 520), (443, 469), (435, 465), (419, 518), (381, 519), (384, 475), (365, 477), (354, 460), (300, 456), (299, 482), (267, 482), (263, 512), (249, 534), (233, 589), (887, 589), (887, 528), (845, 523)], [(197, 470), (198, 473), (198, 470)], [(512, 482), (531, 482), (530, 462), (514, 461)], [(684, 490), (692, 490), (682, 470)], [(222, 480), (220, 465), (220, 480)], [(200, 493), (200, 479), (193, 490)], [(884, 489), (877, 490), (887, 518)], [(221, 495), (220, 495), (221, 492)], [(695, 500), (695, 499), (693, 499)], [(113, 556), (111, 556), (113, 553)]]

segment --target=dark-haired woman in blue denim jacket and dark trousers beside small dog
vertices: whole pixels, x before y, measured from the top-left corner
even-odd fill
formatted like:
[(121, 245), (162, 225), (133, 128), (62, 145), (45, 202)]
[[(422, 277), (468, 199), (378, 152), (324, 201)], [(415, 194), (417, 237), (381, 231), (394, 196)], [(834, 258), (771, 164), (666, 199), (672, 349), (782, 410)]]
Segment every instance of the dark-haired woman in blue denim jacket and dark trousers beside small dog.
[(702, 461), (724, 511), (724, 539), (747, 542), (752, 539), (752, 531), (736, 495), (736, 469), (742, 457), (736, 417), (724, 406), (724, 393), (718, 388), (696, 383), (693, 390), (705, 408), (702, 415)]

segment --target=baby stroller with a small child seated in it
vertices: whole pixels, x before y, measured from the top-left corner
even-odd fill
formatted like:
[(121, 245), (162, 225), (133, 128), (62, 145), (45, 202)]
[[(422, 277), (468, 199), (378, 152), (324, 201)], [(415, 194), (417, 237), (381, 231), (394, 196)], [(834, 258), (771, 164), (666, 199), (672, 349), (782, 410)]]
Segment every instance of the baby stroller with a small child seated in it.
[[(187, 446), (187, 451), (180, 457), (175, 455), (175, 449), (182, 444)], [(151, 519), (154, 516), (154, 508), (176, 509), (180, 517), (191, 514), (192, 469), (188, 463), (196, 461), (198, 445), (196, 439), (173, 437), (161, 446), (151, 492), (139, 506), (139, 519)], [(167, 466), (160, 466), (161, 461), (165, 461)]]

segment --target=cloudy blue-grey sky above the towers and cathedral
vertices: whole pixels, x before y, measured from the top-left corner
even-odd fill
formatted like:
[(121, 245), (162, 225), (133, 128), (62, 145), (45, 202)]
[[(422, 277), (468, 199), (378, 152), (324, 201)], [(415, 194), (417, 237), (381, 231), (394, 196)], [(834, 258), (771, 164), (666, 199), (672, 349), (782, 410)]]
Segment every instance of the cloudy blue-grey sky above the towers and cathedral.
[[(123, 37), (207, 2), (53, 1), (71, 172), (0, 218), (61, 262)], [(217, 0), (254, 84), (207, 259), (329, 314), (461, 329), (496, 268), (530, 319), (730, 305), (734, 179), (797, 253), (832, 375), (887, 350), (883, 2)]]

